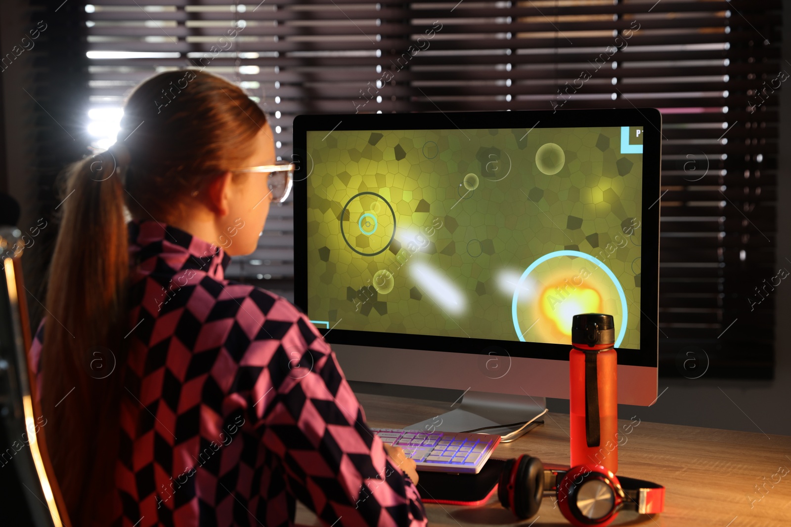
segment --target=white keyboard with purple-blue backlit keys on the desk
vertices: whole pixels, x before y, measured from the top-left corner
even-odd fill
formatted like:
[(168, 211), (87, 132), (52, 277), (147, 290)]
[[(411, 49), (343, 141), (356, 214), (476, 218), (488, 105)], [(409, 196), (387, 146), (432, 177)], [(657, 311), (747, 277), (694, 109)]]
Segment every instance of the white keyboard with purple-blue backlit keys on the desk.
[(465, 434), (423, 430), (372, 428), (382, 442), (403, 448), (404, 454), (430, 472), (477, 474), (489, 459), (501, 437), (491, 434)]

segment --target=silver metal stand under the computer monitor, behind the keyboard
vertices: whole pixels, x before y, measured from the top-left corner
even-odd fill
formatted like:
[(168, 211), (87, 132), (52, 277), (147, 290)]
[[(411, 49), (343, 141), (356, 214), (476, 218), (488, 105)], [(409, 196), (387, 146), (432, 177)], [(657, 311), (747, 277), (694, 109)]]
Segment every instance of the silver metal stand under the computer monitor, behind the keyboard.
[[(545, 397), (471, 391), (464, 393), (462, 397), (458, 408), (405, 428), (430, 432), (463, 432), (486, 427), (480, 432), (497, 434), (504, 438), (513, 435), (513, 437), (508, 437), (510, 441), (532, 429), (527, 426), (517, 432), (524, 423), (536, 420), (547, 412)], [(453, 405), (456, 404), (458, 403), (453, 403)], [(512, 423), (519, 424), (510, 427), (503, 426)]]

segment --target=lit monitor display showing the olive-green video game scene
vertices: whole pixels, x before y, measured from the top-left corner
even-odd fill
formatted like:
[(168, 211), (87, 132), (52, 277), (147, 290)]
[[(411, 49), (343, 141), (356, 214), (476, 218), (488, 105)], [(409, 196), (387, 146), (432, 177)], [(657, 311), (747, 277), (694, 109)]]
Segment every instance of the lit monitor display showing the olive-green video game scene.
[[(578, 123), (568, 115), (580, 113)], [(498, 344), (512, 356), (564, 359), (573, 315), (607, 313), (615, 347), (651, 343), (649, 359), (634, 353), (634, 363), (655, 365), (657, 327), (645, 327), (641, 308), (656, 320), (658, 205), (647, 282), (642, 262), (659, 152), (646, 179), (643, 140), (658, 130), (644, 118), (614, 126), (599, 113), (596, 122), (596, 113), (497, 127), (434, 115), (409, 128), (353, 115), (305, 130), (297, 303), (350, 344), (414, 347), (419, 337), (440, 351)], [(374, 119), (355, 127), (361, 117)]]

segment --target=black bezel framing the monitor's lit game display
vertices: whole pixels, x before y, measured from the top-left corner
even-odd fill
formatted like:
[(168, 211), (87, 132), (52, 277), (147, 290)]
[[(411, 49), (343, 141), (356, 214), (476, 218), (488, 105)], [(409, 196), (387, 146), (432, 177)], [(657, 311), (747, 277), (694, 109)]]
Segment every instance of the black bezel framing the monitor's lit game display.
[[(443, 126), (443, 122), (447, 126)], [(293, 120), (293, 152), (307, 151), (308, 131), (332, 130), (452, 130), (520, 128), (643, 127), (641, 258), (656, 265), (641, 268), (640, 349), (619, 348), (618, 363), (658, 367), (660, 160), (662, 118), (656, 108), (558, 111), (456, 111), (409, 114), (297, 115)], [(298, 158), (297, 158), (298, 160)], [(294, 172), (294, 303), (308, 313), (307, 183), (305, 164)], [(645, 306), (652, 306), (646, 310)], [(653, 315), (653, 317), (651, 316)], [(330, 344), (379, 348), (423, 349), (435, 352), (486, 355), (493, 346), (512, 357), (568, 360), (570, 344), (498, 341), (467, 337), (412, 335), (351, 329), (320, 328)], [(387, 335), (387, 338), (383, 338)], [(650, 351), (644, 353), (643, 351)]]

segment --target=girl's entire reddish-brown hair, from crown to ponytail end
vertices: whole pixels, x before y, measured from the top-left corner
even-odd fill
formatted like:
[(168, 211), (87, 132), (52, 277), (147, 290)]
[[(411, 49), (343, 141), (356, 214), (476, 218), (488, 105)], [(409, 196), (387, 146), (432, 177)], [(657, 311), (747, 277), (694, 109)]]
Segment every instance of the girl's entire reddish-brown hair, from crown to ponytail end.
[(123, 141), (66, 169), (40, 371), (47, 448), (74, 525), (112, 523), (98, 508), (112, 503), (121, 404), (139, 404), (124, 386), (134, 339), (126, 220), (168, 223), (195, 189), (242, 166), (266, 123), (224, 78), (165, 71), (127, 97)]

